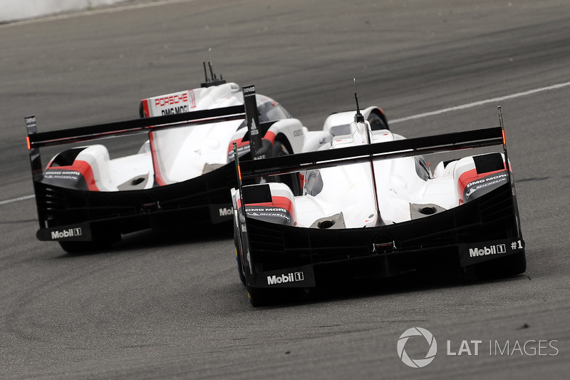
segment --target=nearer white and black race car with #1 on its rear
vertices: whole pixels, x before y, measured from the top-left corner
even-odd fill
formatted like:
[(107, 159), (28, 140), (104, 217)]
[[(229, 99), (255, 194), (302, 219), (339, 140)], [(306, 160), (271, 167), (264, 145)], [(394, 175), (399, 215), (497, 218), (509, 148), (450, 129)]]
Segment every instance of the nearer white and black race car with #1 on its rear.
[[(353, 114), (326, 120), (335, 137), (316, 152), (236, 160), (237, 267), (254, 306), (274, 300), (279, 288), (307, 290), (330, 279), (526, 270), (502, 118), (497, 128), (405, 139), (372, 130), (358, 101)], [(423, 157), (493, 145), (502, 150), (440, 162), (433, 171)], [(302, 195), (283, 183), (242, 183), (291, 172), (304, 176)]]

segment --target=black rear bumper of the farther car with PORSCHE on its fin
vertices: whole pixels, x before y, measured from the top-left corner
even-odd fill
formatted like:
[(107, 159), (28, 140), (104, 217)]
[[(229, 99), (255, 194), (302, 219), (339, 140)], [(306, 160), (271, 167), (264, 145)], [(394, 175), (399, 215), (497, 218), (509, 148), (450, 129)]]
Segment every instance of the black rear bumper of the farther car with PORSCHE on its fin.
[(95, 192), (34, 181), (39, 240), (115, 241), (140, 230), (232, 220), (234, 163), (197, 178), (146, 190)]

